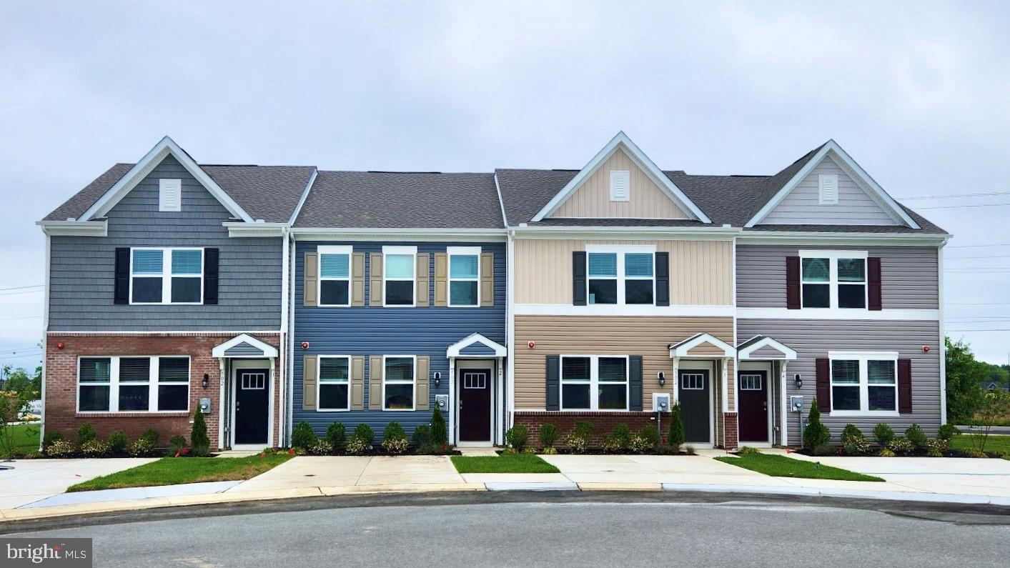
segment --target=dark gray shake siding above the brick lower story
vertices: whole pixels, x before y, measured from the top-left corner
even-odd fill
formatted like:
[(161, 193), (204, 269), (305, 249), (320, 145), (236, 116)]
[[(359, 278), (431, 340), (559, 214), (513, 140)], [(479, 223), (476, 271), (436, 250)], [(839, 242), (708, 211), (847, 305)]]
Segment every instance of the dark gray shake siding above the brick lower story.
[[(159, 180), (181, 179), (182, 211), (158, 210)], [(48, 331), (265, 331), (280, 328), (280, 238), (230, 238), (228, 211), (174, 157), (108, 215), (107, 237), (52, 237)], [(218, 304), (113, 304), (115, 248), (219, 249)]]

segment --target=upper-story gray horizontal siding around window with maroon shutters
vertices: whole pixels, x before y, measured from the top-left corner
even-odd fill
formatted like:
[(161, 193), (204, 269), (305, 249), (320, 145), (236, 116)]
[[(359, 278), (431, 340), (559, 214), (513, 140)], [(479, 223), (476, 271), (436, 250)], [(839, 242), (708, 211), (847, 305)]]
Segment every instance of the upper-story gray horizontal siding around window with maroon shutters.
[[(800, 250), (866, 250), (881, 258), (884, 310), (939, 307), (935, 247), (738, 245), (736, 304), (740, 308), (786, 308), (786, 257)], [(748, 336), (749, 337), (749, 336)], [(747, 338), (744, 338), (747, 339)]]

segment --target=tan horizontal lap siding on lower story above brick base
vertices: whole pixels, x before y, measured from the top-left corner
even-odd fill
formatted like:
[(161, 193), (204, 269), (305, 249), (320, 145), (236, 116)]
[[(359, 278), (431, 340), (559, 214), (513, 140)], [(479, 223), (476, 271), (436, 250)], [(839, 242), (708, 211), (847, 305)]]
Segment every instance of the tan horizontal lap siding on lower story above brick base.
[[(641, 355), (642, 410), (651, 411), (652, 392), (674, 388), (668, 345), (702, 332), (729, 343), (733, 319), (516, 316), (515, 408), (544, 410), (547, 355)], [(527, 347), (530, 341), (536, 343), (533, 349)], [(656, 379), (660, 371), (667, 375), (663, 388)]]

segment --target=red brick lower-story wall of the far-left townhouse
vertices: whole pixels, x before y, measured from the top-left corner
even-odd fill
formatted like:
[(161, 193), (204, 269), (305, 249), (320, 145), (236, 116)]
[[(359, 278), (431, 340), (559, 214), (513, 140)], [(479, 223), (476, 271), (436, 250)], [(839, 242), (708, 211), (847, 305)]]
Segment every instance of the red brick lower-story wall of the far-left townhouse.
[[(91, 423), (100, 437), (113, 430), (122, 430), (133, 440), (147, 428), (161, 434), (161, 445), (167, 445), (175, 435), (189, 440), (192, 430), (191, 417), (199, 408), (199, 400), (211, 400), (211, 413), (205, 415), (211, 448), (220, 448), (220, 364), (211, 356), (214, 346), (227, 341), (234, 334), (143, 334), (143, 335), (90, 335), (49, 333), (45, 350), (45, 432), (62, 432), (73, 439), (77, 429)], [(279, 346), (279, 335), (257, 335), (258, 339)], [(58, 343), (63, 342), (60, 349)], [(189, 355), (190, 356), (190, 410), (180, 413), (106, 413), (79, 414), (77, 412), (77, 360), (80, 356), (129, 356), (129, 355)], [(279, 407), (281, 405), (280, 357), (275, 361), (274, 374), (274, 440), (278, 444)], [(203, 375), (209, 375), (207, 388), (203, 388)]]

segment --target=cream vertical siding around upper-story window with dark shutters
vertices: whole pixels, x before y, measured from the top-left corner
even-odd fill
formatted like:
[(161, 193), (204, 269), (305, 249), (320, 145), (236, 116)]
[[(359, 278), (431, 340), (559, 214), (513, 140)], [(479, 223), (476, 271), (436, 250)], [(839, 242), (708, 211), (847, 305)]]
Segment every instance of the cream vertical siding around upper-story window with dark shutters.
[(733, 303), (731, 241), (518, 239), (515, 241), (516, 304), (571, 305), (572, 253), (593, 244), (654, 244), (658, 252), (669, 252), (673, 306)]

